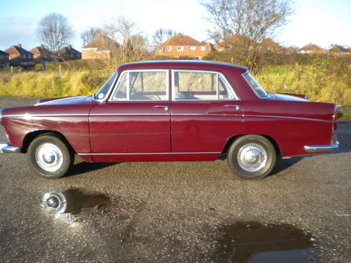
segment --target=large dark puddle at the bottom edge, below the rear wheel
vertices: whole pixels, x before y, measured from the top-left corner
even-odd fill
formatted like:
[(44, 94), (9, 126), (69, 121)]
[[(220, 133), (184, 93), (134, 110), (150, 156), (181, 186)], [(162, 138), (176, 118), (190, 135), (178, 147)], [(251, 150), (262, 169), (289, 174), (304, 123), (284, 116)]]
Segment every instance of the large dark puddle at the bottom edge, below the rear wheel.
[(238, 222), (219, 238), (220, 262), (310, 262), (314, 239), (288, 224)]

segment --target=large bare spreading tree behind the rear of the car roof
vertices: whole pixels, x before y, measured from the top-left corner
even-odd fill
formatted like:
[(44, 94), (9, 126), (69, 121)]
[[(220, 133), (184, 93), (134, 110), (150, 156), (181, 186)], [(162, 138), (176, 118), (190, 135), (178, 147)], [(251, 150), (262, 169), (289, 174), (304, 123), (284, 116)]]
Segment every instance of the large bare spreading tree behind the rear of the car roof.
[(251, 68), (258, 64), (258, 43), (282, 27), (292, 13), (289, 0), (207, 0), (201, 5), (213, 23), (209, 36), (235, 50), (236, 61)]

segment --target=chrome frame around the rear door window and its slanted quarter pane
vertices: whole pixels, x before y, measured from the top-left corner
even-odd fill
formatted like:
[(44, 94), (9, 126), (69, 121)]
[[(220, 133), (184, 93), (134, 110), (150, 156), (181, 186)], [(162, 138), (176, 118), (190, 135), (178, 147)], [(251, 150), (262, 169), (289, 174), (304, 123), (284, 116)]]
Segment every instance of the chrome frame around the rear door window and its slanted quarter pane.
[[(175, 83), (174, 83), (174, 72), (187, 72), (187, 73), (207, 73), (207, 74), (216, 74), (217, 76), (217, 79), (216, 79), (216, 82), (217, 82), (217, 87), (216, 87), (216, 97), (217, 99), (216, 100), (174, 100), (174, 97), (176, 97), (175, 95), (175, 90), (174, 90), (174, 87), (175, 87)], [(230, 100), (230, 101), (233, 101), (233, 100), (240, 100), (240, 97), (237, 95), (237, 93), (235, 92), (234, 88), (232, 87), (232, 85), (230, 85), (229, 81), (227, 81), (227, 78), (221, 73), (221, 72), (216, 72), (216, 71), (213, 71), (213, 70), (201, 70), (201, 69), (171, 69), (171, 76), (172, 76), (172, 86), (171, 86), (171, 89), (172, 89), (172, 102), (187, 102), (187, 101), (207, 101), (207, 102), (210, 102), (210, 101), (223, 101), (223, 100)], [(219, 93), (218, 93), (218, 90), (219, 90), (219, 78), (218, 76), (220, 76), (225, 85), (227, 86), (226, 88), (228, 88), (228, 91), (230, 93), (232, 93), (232, 96), (234, 97), (233, 99), (219, 99)]]

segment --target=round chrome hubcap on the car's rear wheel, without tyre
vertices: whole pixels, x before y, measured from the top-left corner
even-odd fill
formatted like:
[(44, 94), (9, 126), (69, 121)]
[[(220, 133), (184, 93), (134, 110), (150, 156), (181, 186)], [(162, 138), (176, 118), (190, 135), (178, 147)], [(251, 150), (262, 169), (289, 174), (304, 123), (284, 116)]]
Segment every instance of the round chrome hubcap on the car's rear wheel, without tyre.
[(260, 144), (245, 144), (239, 149), (237, 159), (243, 170), (257, 172), (267, 163), (267, 152)]

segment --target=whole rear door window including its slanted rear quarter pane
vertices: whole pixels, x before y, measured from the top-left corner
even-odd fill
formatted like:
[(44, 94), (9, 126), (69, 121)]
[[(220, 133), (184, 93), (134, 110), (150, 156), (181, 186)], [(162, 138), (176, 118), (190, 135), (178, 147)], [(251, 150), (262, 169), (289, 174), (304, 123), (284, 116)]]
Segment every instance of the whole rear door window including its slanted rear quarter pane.
[(217, 72), (173, 71), (173, 100), (233, 100), (234, 94)]

